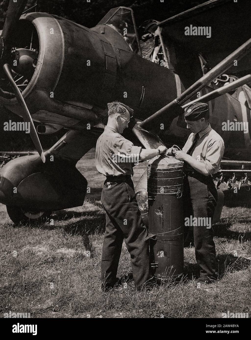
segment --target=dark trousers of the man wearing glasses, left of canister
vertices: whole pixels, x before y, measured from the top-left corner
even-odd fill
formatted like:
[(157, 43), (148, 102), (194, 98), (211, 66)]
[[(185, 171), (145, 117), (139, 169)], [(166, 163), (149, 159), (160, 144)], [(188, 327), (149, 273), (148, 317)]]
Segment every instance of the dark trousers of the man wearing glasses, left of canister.
[(101, 193), (106, 210), (106, 232), (101, 258), (101, 281), (113, 284), (116, 279), (122, 243), (131, 256), (131, 267), (137, 289), (151, 280), (147, 229), (139, 211), (131, 177), (107, 179)]

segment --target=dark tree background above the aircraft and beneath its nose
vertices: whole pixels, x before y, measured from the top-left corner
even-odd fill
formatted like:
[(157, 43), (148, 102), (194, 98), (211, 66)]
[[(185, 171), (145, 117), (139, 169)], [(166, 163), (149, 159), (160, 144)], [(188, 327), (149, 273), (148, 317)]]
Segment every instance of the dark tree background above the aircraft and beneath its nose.
[[(26, 9), (37, 3), (37, 12), (47, 12), (75, 21), (85, 27), (94, 27), (114, 7), (125, 6), (134, 10), (139, 26), (148, 19), (164, 20), (188, 10), (206, 0), (28, 0)], [(0, 3), (0, 29), (2, 29), (9, 0)], [(23, 132), (4, 132), (5, 121), (17, 120), (17, 116), (0, 107), (0, 151), (22, 151), (34, 149), (30, 137)], [(60, 133), (62, 135), (62, 132)], [(60, 135), (40, 136), (44, 148), (49, 148)]]

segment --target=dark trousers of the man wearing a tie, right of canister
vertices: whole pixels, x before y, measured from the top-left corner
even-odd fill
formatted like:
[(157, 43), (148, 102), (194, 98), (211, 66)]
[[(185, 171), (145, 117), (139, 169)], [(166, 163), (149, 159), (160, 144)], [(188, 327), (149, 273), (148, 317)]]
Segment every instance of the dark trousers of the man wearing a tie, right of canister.
[[(217, 204), (217, 189), (211, 176), (203, 176), (195, 171), (184, 177), (184, 220), (190, 216), (211, 218)], [(191, 224), (191, 223), (190, 223)], [(198, 224), (198, 223), (197, 223)], [(184, 226), (184, 239), (189, 226)], [(190, 226), (190, 230), (191, 230)], [(193, 226), (195, 258), (200, 266), (201, 277), (214, 277), (216, 271), (216, 253), (214, 230), (204, 225)]]

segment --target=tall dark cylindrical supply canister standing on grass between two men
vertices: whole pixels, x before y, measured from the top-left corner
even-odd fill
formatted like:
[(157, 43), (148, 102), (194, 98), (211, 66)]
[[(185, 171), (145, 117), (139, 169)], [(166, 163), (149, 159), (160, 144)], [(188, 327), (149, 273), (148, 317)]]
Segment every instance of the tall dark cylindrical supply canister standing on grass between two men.
[(177, 279), (184, 269), (183, 162), (159, 155), (147, 165), (151, 267), (158, 280)]

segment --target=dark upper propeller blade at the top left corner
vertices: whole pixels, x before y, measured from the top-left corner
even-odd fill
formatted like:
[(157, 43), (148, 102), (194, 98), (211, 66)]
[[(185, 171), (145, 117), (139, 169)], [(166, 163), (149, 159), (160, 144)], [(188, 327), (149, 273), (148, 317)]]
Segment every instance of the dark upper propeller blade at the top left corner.
[(27, 0), (9, 1), (6, 18), (3, 25), (2, 37), (9, 39), (17, 28), (18, 20), (25, 9)]

